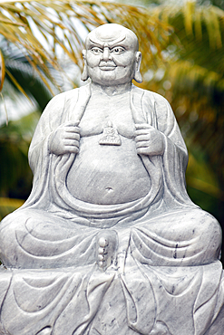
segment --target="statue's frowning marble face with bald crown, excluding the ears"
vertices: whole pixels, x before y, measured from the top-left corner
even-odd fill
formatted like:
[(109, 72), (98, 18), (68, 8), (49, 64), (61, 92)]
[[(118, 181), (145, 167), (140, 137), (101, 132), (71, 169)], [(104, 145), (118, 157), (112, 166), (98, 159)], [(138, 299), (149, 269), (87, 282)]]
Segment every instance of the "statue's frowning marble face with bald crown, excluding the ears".
[(86, 41), (84, 58), (89, 77), (106, 86), (131, 82), (137, 51), (138, 41), (131, 31), (118, 24), (102, 25)]

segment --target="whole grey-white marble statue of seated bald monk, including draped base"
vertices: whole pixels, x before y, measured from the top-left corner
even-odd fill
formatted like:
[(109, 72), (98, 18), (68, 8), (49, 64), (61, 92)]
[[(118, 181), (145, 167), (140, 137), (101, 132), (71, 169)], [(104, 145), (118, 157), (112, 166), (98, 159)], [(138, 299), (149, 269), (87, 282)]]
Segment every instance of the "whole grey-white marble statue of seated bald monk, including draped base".
[(136, 35), (104, 24), (83, 59), (91, 82), (47, 105), (32, 193), (0, 225), (0, 334), (222, 335), (219, 223), (187, 195), (168, 101), (131, 83)]

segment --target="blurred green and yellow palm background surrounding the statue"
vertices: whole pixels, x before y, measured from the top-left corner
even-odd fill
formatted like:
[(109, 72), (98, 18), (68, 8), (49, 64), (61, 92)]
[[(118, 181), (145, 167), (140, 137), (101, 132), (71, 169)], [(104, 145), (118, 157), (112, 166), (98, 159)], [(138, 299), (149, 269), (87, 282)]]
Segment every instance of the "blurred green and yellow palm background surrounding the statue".
[(224, 228), (223, 0), (1, 2), (0, 217), (30, 194), (27, 152), (44, 106), (83, 84), (85, 35), (108, 22), (139, 36), (140, 86), (170, 101), (189, 149), (190, 197)]

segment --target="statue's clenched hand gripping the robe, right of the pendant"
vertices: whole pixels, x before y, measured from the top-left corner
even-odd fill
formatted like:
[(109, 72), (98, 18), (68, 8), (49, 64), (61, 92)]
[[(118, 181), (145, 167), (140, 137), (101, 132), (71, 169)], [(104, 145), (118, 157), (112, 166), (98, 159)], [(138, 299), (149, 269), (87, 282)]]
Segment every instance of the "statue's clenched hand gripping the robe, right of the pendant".
[(138, 155), (157, 156), (164, 152), (161, 132), (147, 123), (135, 124), (135, 142)]

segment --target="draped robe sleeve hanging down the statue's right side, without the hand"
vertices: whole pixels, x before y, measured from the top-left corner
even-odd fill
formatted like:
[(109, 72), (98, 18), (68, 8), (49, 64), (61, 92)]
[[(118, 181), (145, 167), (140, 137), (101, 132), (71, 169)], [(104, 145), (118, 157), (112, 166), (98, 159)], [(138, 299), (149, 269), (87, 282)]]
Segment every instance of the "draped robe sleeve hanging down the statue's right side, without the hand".
[(186, 191), (185, 172), (188, 151), (177, 120), (166, 99), (157, 93), (146, 94), (148, 113), (154, 115), (154, 126), (161, 131), (165, 150), (161, 158), (164, 201), (169, 207), (194, 206)]

